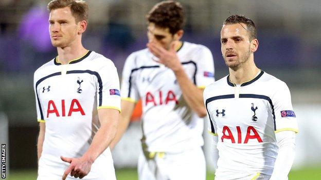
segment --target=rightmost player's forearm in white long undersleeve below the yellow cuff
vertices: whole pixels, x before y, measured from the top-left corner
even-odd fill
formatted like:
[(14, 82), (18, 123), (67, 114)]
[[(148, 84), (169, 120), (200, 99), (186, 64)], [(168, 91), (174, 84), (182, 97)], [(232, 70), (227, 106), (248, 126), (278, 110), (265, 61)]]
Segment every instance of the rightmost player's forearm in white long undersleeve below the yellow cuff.
[(275, 136), (279, 149), (270, 180), (287, 179), (295, 156), (295, 132), (281, 131)]

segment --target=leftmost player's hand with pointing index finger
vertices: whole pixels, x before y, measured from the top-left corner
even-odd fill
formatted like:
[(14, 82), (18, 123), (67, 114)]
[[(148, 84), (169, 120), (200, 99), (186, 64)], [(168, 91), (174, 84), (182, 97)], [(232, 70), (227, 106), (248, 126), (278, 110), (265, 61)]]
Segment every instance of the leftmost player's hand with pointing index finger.
[(93, 162), (90, 161), (90, 159), (85, 157), (69, 158), (60, 156), (60, 158), (62, 161), (70, 163), (69, 167), (66, 169), (65, 173), (62, 176), (62, 180), (65, 180), (69, 173), (71, 176), (74, 176), (75, 178), (83, 178), (90, 172), (93, 164)]

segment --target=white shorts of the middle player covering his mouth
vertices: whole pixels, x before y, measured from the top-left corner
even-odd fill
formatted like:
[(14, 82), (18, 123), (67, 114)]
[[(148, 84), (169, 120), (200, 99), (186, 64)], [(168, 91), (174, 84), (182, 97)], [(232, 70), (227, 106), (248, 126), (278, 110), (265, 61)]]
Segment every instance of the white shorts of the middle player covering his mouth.
[(138, 158), (139, 180), (205, 180), (206, 163), (202, 148), (182, 153), (155, 153), (147, 159), (141, 152)]

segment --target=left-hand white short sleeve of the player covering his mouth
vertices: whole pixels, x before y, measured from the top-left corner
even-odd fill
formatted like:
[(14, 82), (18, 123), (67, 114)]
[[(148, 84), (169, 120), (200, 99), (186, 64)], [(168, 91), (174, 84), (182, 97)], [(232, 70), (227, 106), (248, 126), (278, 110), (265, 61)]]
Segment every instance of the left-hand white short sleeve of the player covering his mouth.
[(135, 88), (133, 81), (133, 73), (135, 71), (135, 55), (131, 54), (126, 59), (125, 65), (122, 70), (122, 81), (121, 81), (121, 99), (137, 102), (139, 99), (139, 94)]

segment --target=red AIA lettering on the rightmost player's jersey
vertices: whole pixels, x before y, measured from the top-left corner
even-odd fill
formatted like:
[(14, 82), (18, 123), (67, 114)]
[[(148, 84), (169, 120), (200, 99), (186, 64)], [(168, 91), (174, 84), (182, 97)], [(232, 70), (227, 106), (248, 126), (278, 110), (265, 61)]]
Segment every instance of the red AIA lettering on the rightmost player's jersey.
[[(223, 135), (221, 137), (222, 142), (224, 142), (224, 139), (229, 139), (231, 141), (231, 143), (235, 143), (235, 137), (234, 137), (231, 129), (234, 130), (234, 128), (232, 128), (232, 127), (231, 128), (229, 128), (228, 126), (224, 126), (223, 127), (223, 130), (222, 130)], [(237, 130), (237, 143), (241, 144), (242, 143), (241, 127), (237, 126), (236, 130)], [(256, 139), (258, 143), (262, 143), (263, 142), (262, 138), (259, 135), (259, 133), (257, 132), (257, 130), (253, 126), (248, 126), (246, 128), (246, 135), (245, 135), (245, 139), (244, 139), (243, 143), (247, 144), (249, 139)]]

